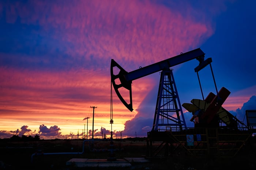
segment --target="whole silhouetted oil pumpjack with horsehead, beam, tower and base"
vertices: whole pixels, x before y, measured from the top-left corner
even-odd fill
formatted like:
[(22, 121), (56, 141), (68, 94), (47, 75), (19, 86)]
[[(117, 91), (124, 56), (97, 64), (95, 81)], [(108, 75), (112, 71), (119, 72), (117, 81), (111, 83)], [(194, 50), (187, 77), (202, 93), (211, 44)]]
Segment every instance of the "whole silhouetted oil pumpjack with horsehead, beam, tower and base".
[[(110, 74), (113, 88), (118, 98), (131, 112), (133, 111), (132, 81), (161, 72), (153, 126), (152, 130), (147, 134), (147, 156), (155, 157), (162, 152), (163, 148), (165, 148), (165, 156), (180, 152), (180, 150), (193, 156), (213, 154), (218, 156), (221, 154), (234, 156), (246, 140), (248, 140), (249, 136), (252, 135), (249, 127), (222, 107), (230, 92), (224, 87), (219, 92), (217, 91), (213, 72), (212, 77), (217, 94), (210, 93), (204, 99), (198, 72), (207, 65), (211, 67), (212, 62), (211, 58), (204, 59), (204, 55), (205, 53), (198, 48), (145, 67), (140, 67), (132, 72), (125, 71), (114, 59), (111, 60)], [(184, 103), (181, 105), (170, 67), (191, 61), (192, 59), (199, 61), (199, 65), (194, 70), (197, 73), (203, 100), (192, 99), (191, 104)], [(128, 101), (121, 95), (123, 90), (129, 92)], [(192, 113), (191, 121), (195, 123), (194, 128), (187, 127), (181, 106)], [(231, 132), (227, 132), (227, 129), (223, 131), (219, 125), (222, 123)], [(240, 124), (241, 128), (246, 128), (246, 130), (239, 130), (237, 128), (238, 124)], [(227, 133), (231, 134), (230, 137), (222, 135)], [(196, 140), (194, 140), (195, 137)], [(162, 143), (157, 148), (154, 148), (153, 142), (160, 141)], [(222, 149), (219, 145), (220, 143), (225, 148)], [(231, 146), (227, 147), (226, 143), (231, 144)]]

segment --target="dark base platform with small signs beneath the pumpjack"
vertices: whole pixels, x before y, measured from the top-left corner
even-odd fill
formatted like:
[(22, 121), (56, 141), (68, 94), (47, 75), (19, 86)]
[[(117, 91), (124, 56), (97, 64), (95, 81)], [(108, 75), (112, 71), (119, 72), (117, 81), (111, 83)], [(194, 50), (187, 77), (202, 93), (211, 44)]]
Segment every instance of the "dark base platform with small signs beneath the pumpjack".
[[(185, 155), (187, 157), (235, 157), (243, 147), (250, 147), (253, 130), (229, 128), (189, 128), (185, 131), (147, 133), (148, 158)], [(188, 136), (193, 136), (193, 140)], [(199, 139), (200, 136), (200, 139)]]

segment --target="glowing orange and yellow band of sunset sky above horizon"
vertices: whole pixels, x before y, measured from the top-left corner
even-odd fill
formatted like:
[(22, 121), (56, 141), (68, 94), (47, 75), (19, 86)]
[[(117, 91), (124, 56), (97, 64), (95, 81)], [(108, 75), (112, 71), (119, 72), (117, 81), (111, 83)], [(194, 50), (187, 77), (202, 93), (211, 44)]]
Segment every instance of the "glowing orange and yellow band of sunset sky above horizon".
[[(63, 135), (75, 133), (78, 129), (82, 132), (84, 124), (87, 123), (83, 121), (83, 118), (87, 116), (90, 117), (88, 123), (92, 129), (93, 111), (90, 106), (93, 105), (97, 106), (94, 115), (94, 130), (100, 130), (101, 127), (110, 128), (110, 87), (105, 86), (105, 84), (110, 84), (110, 80), (106, 76), (94, 76), (96, 80), (101, 80), (101, 85), (98, 86), (90, 82), (91, 80), (84, 79), (84, 72), (90, 73), (90, 70), (70, 71), (69, 73), (30, 72), (29, 70), (3, 68), (0, 70), (3, 77), (9, 77), (1, 78), (4, 80), (1, 89), (8, 96), (0, 97), (0, 103), (3, 104), (1, 109), (4, 110), (0, 113), (2, 118), (0, 130), (15, 131), (27, 125), (31, 131), (37, 131), (39, 125), (44, 124), (47, 127), (57, 125)], [(67, 77), (74, 78), (70, 80)], [(133, 98), (135, 109), (144, 98), (143, 96), (146, 96), (147, 90), (150, 89), (148, 84), (152, 82), (145, 78), (139, 84), (133, 88), (136, 93)], [(92, 87), (93, 92), (91, 92)], [(80, 100), (68, 96), (80, 92), (82, 93), (79, 94)], [(116, 94), (113, 93), (113, 96), (113, 128), (116, 131), (122, 131), (125, 121), (132, 119), (136, 111), (128, 111)]]

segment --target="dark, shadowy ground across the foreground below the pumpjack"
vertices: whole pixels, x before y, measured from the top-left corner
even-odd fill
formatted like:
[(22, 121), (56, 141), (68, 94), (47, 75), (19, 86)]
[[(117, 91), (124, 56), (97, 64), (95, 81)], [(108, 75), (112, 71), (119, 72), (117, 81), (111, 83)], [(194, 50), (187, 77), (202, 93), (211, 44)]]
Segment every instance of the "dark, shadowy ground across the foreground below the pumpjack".
[[(114, 140), (114, 157), (139, 158), (146, 155), (146, 140), (124, 139)], [(0, 139), (0, 170), (21, 170), (21, 169), (56, 169), (72, 170), (79, 169), (67, 166), (66, 162), (72, 158), (107, 159), (110, 156), (110, 141), (94, 141), (84, 143), (83, 140), (38, 140), (27, 142), (13, 142), (7, 139)], [(155, 143), (157, 146), (157, 143)], [(56, 153), (50, 155), (48, 153)], [(71, 153), (71, 154), (69, 154)], [(80, 168), (82, 169), (82, 168)], [(83, 168), (88, 169), (88, 168)], [(95, 167), (94, 169), (102, 169)], [(106, 169), (106, 168), (105, 168)], [(255, 170), (256, 149), (255, 143), (249, 147), (241, 148), (239, 154), (234, 158), (193, 158), (178, 153), (170, 157), (157, 157), (150, 159), (147, 163), (132, 163), (128, 168), (108, 169), (156, 169), (156, 170)]]

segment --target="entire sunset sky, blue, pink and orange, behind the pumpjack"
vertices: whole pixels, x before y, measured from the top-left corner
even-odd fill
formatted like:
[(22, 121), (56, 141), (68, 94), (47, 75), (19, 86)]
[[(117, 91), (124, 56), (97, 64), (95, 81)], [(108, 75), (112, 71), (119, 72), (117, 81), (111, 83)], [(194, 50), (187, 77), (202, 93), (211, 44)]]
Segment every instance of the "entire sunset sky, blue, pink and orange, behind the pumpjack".
[[(159, 73), (132, 82), (133, 111), (113, 91), (110, 62), (127, 72), (200, 48), (212, 58), (222, 105), (239, 120), (256, 109), (254, 0), (0, 1), (0, 138), (143, 137), (151, 130)], [(182, 103), (202, 99), (192, 60), (172, 67)], [(204, 96), (216, 94), (209, 67)], [(95, 109), (93, 110), (93, 107)], [(186, 122), (191, 113), (184, 108)], [(83, 120), (85, 117), (90, 117)], [(188, 120), (187, 120), (188, 119)], [(88, 125), (88, 130), (87, 130)], [(75, 137), (76, 136), (76, 137)]]

